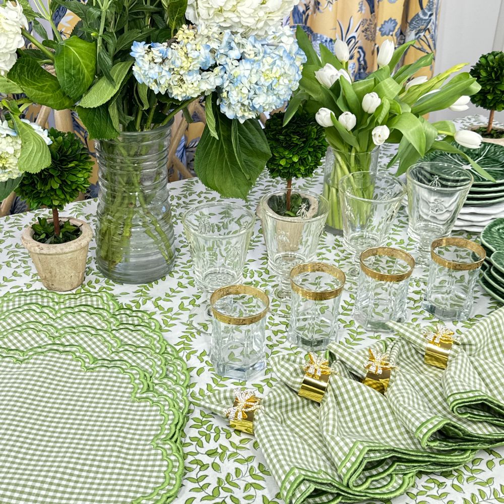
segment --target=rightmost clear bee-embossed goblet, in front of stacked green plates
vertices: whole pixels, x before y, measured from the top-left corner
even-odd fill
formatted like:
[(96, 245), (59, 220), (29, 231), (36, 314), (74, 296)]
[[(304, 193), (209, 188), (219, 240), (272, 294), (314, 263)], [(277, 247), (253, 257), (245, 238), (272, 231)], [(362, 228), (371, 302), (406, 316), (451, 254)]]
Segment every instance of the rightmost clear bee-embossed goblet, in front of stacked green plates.
[(430, 244), (448, 236), (473, 183), (470, 171), (447, 163), (424, 162), (410, 166), (408, 235), (417, 242), (417, 264), (430, 262)]

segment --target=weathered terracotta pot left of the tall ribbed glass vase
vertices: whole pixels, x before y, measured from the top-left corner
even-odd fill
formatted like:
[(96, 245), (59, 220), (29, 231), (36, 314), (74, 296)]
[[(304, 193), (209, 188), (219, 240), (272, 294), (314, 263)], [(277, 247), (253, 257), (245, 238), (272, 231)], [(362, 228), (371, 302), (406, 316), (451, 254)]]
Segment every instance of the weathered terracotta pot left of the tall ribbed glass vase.
[[(81, 228), (81, 235), (68, 243), (53, 245), (39, 243), (32, 238), (31, 226), (25, 228), (21, 235), (21, 241), (30, 253), (41, 282), (49, 290), (73, 290), (84, 281), (89, 242), (93, 237), (93, 231), (89, 224), (82, 220), (61, 219), (61, 221), (67, 220)], [(52, 219), (49, 220), (51, 221)]]

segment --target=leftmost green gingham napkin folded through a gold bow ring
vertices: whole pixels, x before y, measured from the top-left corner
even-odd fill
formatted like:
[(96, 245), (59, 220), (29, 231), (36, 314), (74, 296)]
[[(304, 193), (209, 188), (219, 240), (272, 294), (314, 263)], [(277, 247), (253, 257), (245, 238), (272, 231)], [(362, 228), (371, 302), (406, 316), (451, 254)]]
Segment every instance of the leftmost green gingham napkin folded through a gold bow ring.
[[(200, 406), (225, 417), (235, 396), (235, 390), (219, 390), (202, 398)], [(289, 387), (278, 383), (261, 405), (262, 409), (256, 411), (254, 417), (254, 434), (287, 504), (389, 499), (404, 493), (413, 484), (414, 472), (391, 474), (387, 484), (381, 487), (376, 483), (374, 488), (369, 485), (358, 491), (351, 489), (328, 453), (319, 427), (317, 403), (299, 397)], [(379, 468), (376, 471), (379, 472)]]

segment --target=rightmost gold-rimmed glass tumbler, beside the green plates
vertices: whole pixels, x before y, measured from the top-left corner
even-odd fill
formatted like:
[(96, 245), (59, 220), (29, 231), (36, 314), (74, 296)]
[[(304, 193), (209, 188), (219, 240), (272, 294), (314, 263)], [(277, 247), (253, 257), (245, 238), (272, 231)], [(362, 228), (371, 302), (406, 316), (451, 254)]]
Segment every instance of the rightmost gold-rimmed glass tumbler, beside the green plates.
[(430, 254), (423, 309), (442, 320), (468, 319), (485, 249), (474, 241), (449, 237), (434, 240)]

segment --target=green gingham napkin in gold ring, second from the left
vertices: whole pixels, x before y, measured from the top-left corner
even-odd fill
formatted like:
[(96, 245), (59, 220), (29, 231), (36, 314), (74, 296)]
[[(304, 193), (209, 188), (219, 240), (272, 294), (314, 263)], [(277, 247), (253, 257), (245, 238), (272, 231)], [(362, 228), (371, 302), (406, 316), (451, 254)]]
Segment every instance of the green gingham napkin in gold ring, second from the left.
[[(306, 360), (273, 357), (270, 363), (279, 379), (297, 392)], [(382, 394), (356, 380), (341, 362), (332, 369), (319, 428), (338, 474), (352, 490), (383, 491), (397, 478), (454, 468), (471, 459), (471, 450), (422, 447)]]

